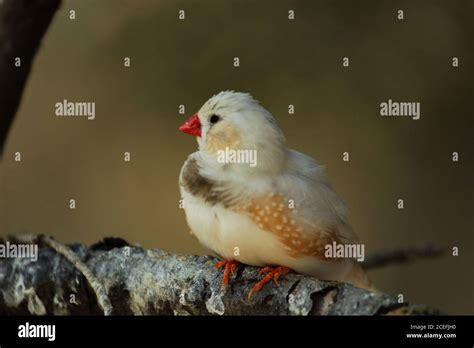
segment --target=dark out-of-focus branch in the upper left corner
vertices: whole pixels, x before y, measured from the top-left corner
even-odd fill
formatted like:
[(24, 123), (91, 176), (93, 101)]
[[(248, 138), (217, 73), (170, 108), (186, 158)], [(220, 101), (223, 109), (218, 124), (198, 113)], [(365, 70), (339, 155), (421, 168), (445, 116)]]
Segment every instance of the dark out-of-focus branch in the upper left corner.
[[(41, 39), (61, 0), (0, 1), (0, 156)], [(15, 66), (15, 58), (21, 66)]]

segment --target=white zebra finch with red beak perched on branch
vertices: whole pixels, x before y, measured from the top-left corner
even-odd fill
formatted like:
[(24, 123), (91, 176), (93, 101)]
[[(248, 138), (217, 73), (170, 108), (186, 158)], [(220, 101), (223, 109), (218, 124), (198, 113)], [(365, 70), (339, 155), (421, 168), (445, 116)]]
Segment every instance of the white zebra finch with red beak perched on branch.
[(215, 264), (222, 289), (240, 264), (261, 268), (249, 297), (290, 272), (373, 288), (354, 258), (326, 253), (359, 239), (324, 166), (289, 149), (272, 114), (250, 94), (215, 94), (179, 130), (198, 143), (179, 175), (186, 221), (222, 259)]

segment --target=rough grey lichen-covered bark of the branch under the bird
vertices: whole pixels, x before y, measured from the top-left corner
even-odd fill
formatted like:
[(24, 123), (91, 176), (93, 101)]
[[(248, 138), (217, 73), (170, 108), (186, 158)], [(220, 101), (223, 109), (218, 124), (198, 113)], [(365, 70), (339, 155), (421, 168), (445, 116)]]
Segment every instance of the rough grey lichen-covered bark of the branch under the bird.
[[(112, 242), (111, 242), (112, 241)], [(146, 250), (109, 240), (71, 250), (103, 284), (114, 315), (380, 315), (438, 314), (425, 306), (348, 284), (289, 274), (248, 298), (258, 269), (240, 266), (228, 289), (209, 256)], [(77, 304), (70, 302), (74, 295)], [(103, 314), (76, 267), (50, 248), (30, 259), (0, 259), (0, 315)]]

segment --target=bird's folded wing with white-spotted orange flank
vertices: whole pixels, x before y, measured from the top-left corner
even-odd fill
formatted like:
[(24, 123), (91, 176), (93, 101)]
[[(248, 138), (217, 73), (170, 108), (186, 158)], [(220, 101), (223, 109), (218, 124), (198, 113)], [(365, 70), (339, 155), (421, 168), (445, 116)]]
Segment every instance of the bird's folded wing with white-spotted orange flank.
[(329, 185), (324, 168), (290, 150), (288, 170), (272, 179), (267, 191), (234, 207), (273, 233), (294, 257), (324, 259), (324, 246), (354, 243), (346, 208)]

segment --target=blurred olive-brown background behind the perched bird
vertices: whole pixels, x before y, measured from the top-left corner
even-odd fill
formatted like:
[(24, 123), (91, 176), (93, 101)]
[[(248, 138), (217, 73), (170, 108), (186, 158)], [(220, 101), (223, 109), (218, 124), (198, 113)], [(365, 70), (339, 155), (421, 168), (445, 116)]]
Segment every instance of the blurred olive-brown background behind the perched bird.
[[(64, 1), (0, 164), (0, 233), (206, 253), (178, 207), (196, 142), (177, 128), (214, 93), (245, 91), (290, 147), (327, 166), (367, 253), (459, 247), (458, 257), (371, 272), (382, 291), (473, 314), (472, 13), (469, 0)], [(63, 99), (95, 102), (96, 119), (55, 116)], [(421, 119), (381, 117), (388, 99), (421, 102)]]

